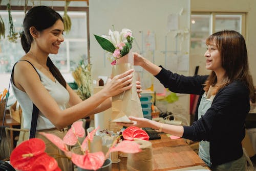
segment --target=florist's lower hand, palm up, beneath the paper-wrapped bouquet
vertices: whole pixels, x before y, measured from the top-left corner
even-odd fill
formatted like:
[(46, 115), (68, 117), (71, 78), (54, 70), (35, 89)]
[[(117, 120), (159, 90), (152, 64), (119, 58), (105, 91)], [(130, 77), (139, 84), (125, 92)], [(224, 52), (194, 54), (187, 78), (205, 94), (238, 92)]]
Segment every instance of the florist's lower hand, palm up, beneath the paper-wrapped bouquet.
[(129, 117), (130, 120), (133, 121), (133, 123), (117, 123), (118, 125), (122, 125), (125, 127), (131, 127), (131, 126), (135, 126), (135, 127), (139, 127), (139, 128), (147, 128), (147, 127), (152, 127), (152, 120), (147, 119), (147, 118), (141, 118), (141, 117), (134, 117), (134, 116), (130, 116)]

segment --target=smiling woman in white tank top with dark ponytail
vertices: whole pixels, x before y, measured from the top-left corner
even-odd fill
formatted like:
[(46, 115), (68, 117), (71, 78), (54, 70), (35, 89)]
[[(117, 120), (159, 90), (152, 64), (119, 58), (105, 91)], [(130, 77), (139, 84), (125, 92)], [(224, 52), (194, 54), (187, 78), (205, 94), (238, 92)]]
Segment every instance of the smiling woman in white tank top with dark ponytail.
[[(37, 132), (54, 133), (62, 138), (67, 130), (63, 132), (60, 129), (80, 118), (110, 108), (111, 96), (131, 89), (133, 70), (128, 70), (82, 101), (48, 57), (49, 54), (57, 54), (64, 41), (61, 16), (49, 7), (34, 7), (26, 14), (23, 27), (21, 41), (26, 55), (14, 67), (12, 88), (23, 110), (25, 129), (30, 129), (34, 104), (39, 109)], [(140, 92), (140, 85), (137, 88), (137, 92)], [(66, 105), (71, 107), (66, 109)], [(46, 152), (61, 153), (44, 136), (37, 134), (36, 137), (45, 140)], [(68, 160), (58, 158), (57, 161), (61, 170), (72, 170)]]

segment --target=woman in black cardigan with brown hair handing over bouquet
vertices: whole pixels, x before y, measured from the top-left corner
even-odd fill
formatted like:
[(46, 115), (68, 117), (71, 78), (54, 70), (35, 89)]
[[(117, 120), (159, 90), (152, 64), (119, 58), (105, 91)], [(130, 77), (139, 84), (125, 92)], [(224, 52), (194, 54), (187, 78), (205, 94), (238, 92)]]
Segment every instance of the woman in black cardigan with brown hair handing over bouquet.
[(245, 117), (254, 99), (249, 74), (246, 44), (236, 31), (221, 31), (206, 40), (206, 69), (209, 76), (185, 77), (174, 74), (134, 54), (134, 64), (151, 72), (170, 91), (198, 94), (196, 119), (191, 126), (158, 123), (130, 117), (133, 124), (160, 132), (200, 141), (199, 156), (212, 170), (245, 170), (246, 159), (241, 141), (245, 136)]

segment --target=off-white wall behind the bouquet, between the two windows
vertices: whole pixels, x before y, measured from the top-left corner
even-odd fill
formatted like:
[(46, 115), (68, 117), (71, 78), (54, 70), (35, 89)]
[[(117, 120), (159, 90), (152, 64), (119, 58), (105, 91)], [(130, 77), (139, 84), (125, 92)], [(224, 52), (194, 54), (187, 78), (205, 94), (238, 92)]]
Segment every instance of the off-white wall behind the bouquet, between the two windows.
[[(111, 74), (110, 62), (106, 61), (104, 65), (104, 52), (93, 34), (108, 35), (109, 29), (112, 29), (112, 25), (114, 25), (117, 31), (121, 31), (123, 28), (131, 29), (136, 41), (141, 45), (140, 32), (154, 32), (156, 40), (155, 64), (164, 65), (165, 55), (161, 51), (165, 50), (165, 35), (172, 35), (167, 30), (167, 16), (179, 14), (183, 8), (182, 15), (179, 15), (179, 30), (184, 31), (190, 28), (190, 0), (91, 0), (89, 6), (90, 56), (92, 57), (93, 79), (97, 79), (99, 75), (109, 76)], [(189, 34), (182, 41), (181, 54), (189, 53)], [(175, 42), (169, 43), (174, 44)], [(139, 52), (135, 42), (133, 47), (133, 51)], [(170, 50), (170, 47), (167, 48)], [(188, 75), (188, 72), (182, 72), (182, 74)], [(179, 105), (184, 107), (185, 113), (188, 113), (188, 96), (181, 96), (179, 102)]]

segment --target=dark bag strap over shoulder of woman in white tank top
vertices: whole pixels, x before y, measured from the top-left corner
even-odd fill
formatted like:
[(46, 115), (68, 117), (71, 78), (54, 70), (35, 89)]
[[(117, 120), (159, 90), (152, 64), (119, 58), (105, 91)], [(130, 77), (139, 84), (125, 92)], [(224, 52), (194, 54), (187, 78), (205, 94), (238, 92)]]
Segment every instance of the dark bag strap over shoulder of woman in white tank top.
[[(19, 60), (17, 61), (13, 67), (12, 67), (12, 72), (11, 72), (11, 78), (10, 78), (10, 82), (9, 82), (9, 86), (8, 86), (8, 93), (10, 92), (10, 85), (11, 85), (11, 81), (13, 79), (13, 72), (14, 72), (14, 66), (20, 62), (20, 61), (26, 61), (28, 63), (30, 63), (33, 68), (35, 69), (34, 65), (29, 62), (28, 60)], [(39, 76), (39, 79), (41, 80), (40, 75), (38, 74), (37, 70), (35, 69), (37, 75)], [(4, 118), (3, 118), (3, 123), (2, 123), (2, 127), (1, 127), (1, 133), (0, 133), (0, 142), (2, 140), (2, 135), (3, 135), (3, 129), (4, 129), (4, 123), (5, 123), (5, 115), (6, 115), (6, 108), (7, 108), (7, 102), (8, 102), (8, 97), (9, 95), (6, 96), (6, 104), (5, 104), (5, 110), (4, 110)], [(38, 113), (39, 113), (39, 109), (35, 106), (35, 104), (33, 104), (33, 111), (32, 111), (32, 120), (31, 120), (31, 127), (30, 127), (30, 135), (29, 138), (34, 138), (35, 137), (35, 133), (36, 133), (36, 126), (37, 126), (37, 119), (38, 119)]]

